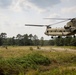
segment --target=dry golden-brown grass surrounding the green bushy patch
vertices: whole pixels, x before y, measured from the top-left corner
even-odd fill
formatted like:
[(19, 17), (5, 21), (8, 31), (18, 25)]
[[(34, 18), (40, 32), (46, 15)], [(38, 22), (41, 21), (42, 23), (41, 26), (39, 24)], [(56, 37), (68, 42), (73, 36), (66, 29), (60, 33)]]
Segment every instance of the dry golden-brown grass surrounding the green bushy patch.
[[(4, 47), (0, 47), (0, 58), (1, 57), (4, 59), (11, 57), (16, 58), (37, 52), (43, 56), (49, 57), (52, 63), (47, 67), (40, 66), (39, 70), (33, 70), (33, 69), (28, 70), (26, 75), (49, 75), (49, 74), (57, 75), (58, 73), (61, 73), (60, 75), (62, 75), (63, 72), (65, 72), (65, 74), (63, 75), (71, 75), (66, 73), (67, 72), (75, 73), (76, 71), (76, 51), (72, 52), (69, 51), (69, 49), (75, 50), (75, 47), (67, 48), (67, 47), (45, 46), (45, 47), (40, 47), (40, 49), (37, 49), (36, 46), (14, 46), (14, 47), (8, 46), (8, 49)], [(56, 74), (52, 74), (54, 72)], [(25, 75), (25, 74), (21, 72), (20, 75)]]

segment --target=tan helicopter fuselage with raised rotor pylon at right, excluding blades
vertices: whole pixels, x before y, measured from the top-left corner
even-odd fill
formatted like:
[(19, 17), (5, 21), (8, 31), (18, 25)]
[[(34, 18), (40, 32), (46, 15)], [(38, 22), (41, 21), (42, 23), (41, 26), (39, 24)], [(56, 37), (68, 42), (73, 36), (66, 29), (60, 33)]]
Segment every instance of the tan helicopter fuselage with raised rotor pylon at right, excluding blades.
[(76, 19), (69, 21), (63, 28), (46, 28), (45, 34), (48, 36), (69, 36), (76, 34)]

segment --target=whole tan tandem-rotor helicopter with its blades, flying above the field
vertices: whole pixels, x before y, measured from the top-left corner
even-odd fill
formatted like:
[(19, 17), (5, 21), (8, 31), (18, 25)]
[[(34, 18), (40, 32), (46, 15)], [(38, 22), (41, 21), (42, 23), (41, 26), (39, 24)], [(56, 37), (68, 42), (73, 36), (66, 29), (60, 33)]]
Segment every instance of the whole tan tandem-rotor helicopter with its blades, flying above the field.
[(66, 25), (64, 25), (63, 28), (52, 28), (51, 25), (54, 24), (49, 24), (49, 25), (35, 25), (35, 24), (25, 24), (25, 26), (38, 26), (38, 27), (46, 27), (46, 31), (45, 34), (48, 36), (70, 36), (70, 35), (74, 35), (76, 34), (76, 18), (69, 18), (69, 19), (65, 19), (65, 18), (45, 18), (45, 19), (57, 19), (57, 20), (63, 20), (54, 24), (58, 24), (58, 23), (62, 23), (65, 21), (70, 20)]

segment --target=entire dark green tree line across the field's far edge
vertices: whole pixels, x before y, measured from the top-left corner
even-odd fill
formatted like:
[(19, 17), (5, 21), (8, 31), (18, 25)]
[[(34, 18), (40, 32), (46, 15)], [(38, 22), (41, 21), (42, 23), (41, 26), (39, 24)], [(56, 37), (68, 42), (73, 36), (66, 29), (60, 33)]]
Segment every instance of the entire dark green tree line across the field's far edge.
[(76, 37), (65, 38), (50, 38), (50, 40), (44, 40), (44, 37), (38, 38), (37, 35), (32, 34), (17, 34), (16, 37), (7, 37), (7, 33), (0, 33), (0, 46), (76, 46)]

